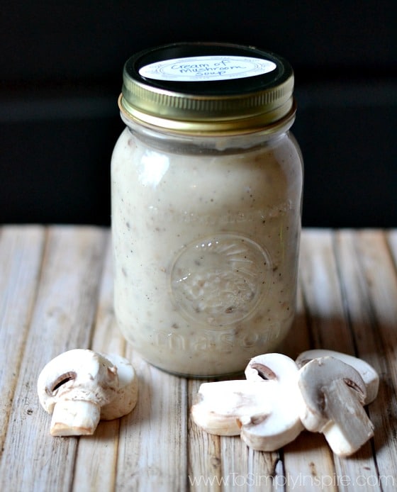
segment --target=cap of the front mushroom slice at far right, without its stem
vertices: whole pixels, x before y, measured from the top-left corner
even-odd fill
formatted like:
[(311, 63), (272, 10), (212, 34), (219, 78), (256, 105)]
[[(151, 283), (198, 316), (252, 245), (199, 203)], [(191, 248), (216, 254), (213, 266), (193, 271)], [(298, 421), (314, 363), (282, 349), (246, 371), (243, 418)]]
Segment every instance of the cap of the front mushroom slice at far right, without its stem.
[(329, 422), (328, 393), (335, 381), (343, 381), (357, 401), (364, 404), (367, 395), (364, 381), (350, 364), (328, 356), (312, 359), (299, 369), (298, 387), (303, 396), (300, 415), (306, 429), (321, 431)]

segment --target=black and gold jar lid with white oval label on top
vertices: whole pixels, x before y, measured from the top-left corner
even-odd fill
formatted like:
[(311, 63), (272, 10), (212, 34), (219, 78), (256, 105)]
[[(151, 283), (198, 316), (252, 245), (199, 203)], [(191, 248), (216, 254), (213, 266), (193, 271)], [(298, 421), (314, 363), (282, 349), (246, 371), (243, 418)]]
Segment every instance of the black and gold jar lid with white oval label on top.
[(293, 70), (255, 47), (154, 47), (125, 63), (119, 106), (128, 119), (174, 133), (271, 133), (295, 114)]

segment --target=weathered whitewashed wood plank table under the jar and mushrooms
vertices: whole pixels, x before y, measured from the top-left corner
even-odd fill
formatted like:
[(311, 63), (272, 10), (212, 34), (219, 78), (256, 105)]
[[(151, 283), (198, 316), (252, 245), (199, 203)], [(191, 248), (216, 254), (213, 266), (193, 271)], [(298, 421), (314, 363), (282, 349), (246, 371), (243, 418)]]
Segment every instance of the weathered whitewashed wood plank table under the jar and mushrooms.
[[(111, 236), (87, 227), (0, 228), (1, 491), (394, 491), (397, 486), (397, 231), (305, 230), (298, 315), (280, 351), (356, 354), (381, 375), (375, 437), (349, 459), (302, 432), (279, 452), (201, 432), (201, 381), (146, 364), (113, 319)], [(140, 379), (130, 415), (91, 437), (51, 437), (36, 381), (72, 348), (118, 352)]]

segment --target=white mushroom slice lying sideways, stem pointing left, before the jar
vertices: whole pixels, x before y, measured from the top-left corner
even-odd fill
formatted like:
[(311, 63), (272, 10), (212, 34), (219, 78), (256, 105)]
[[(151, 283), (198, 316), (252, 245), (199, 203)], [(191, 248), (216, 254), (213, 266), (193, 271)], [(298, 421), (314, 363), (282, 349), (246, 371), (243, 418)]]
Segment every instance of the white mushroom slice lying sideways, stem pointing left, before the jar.
[(217, 435), (238, 435), (252, 447), (274, 451), (303, 429), (296, 402), (298, 367), (282, 354), (255, 357), (246, 368), (250, 380), (201, 384), (191, 408), (197, 425)]

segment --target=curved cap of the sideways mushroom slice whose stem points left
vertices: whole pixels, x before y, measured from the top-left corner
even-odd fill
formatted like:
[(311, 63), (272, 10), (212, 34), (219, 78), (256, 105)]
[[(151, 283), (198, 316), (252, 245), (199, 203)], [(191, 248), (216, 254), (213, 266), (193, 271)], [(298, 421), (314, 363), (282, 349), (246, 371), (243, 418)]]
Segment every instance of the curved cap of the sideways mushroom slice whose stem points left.
[(296, 439), (303, 425), (298, 413), (302, 397), (295, 362), (283, 354), (259, 355), (250, 360), (245, 376), (260, 385), (272, 410), (260, 422), (241, 421), (242, 440), (253, 449), (274, 451)]

